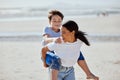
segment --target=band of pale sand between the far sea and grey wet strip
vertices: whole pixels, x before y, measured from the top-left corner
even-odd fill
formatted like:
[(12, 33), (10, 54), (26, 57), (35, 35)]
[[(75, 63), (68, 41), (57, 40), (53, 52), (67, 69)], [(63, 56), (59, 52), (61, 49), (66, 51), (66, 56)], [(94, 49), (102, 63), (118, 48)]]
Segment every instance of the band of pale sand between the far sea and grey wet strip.
[[(88, 34), (120, 34), (120, 14), (96, 17), (65, 17), (64, 21), (75, 20), (79, 28)], [(39, 20), (0, 21), (0, 32), (39, 32), (49, 26), (47, 17)]]

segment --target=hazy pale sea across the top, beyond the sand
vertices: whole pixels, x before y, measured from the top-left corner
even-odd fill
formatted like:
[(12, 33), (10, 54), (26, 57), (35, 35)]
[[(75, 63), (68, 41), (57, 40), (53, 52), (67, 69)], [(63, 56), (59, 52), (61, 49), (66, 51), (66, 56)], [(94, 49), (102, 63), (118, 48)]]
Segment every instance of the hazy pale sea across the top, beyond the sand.
[(43, 19), (51, 9), (65, 17), (120, 14), (120, 0), (0, 0), (0, 21)]

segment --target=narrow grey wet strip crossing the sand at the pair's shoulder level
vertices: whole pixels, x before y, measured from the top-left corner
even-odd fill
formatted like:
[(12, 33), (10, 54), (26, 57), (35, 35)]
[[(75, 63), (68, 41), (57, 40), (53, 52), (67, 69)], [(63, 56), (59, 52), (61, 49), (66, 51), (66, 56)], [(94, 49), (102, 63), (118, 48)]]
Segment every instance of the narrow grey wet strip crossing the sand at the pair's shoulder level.
[[(0, 33), (0, 41), (41, 41), (42, 34), (39, 32), (24, 33)], [(88, 34), (91, 42), (120, 42), (120, 34)]]

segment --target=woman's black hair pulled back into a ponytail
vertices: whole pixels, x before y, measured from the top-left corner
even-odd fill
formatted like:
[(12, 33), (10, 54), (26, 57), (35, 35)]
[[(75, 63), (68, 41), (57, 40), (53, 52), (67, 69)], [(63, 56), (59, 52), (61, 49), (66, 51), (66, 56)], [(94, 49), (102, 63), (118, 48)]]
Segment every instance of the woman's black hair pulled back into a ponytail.
[(75, 38), (80, 39), (81, 41), (83, 41), (86, 45), (90, 46), (89, 41), (87, 40), (87, 38), (85, 37), (85, 32), (82, 32), (79, 29), (78, 25), (76, 22), (69, 20), (67, 22), (65, 22), (63, 25), (63, 27), (65, 27), (67, 30), (69, 30), (70, 32), (75, 31)]

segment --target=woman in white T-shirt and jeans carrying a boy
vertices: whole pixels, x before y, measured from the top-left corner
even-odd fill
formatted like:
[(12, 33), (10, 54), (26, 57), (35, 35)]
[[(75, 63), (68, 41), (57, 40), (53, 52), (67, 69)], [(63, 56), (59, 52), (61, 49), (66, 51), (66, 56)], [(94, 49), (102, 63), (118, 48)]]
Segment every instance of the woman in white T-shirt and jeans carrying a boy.
[[(46, 67), (46, 53), (54, 51), (55, 55), (60, 58), (57, 63), (60, 64), (58, 69), (52, 70), (52, 80), (75, 80), (73, 65), (77, 62), (80, 47), (82, 43), (90, 45), (85, 37), (84, 32), (78, 30), (78, 25), (74, 21), (67, 21), (61, 27), (62, 43), (49, 43), (42, 48), (42, 59)], [(53, 58), (52, 58), (53, 59)], [(52, 64), (50, 64), (52, 66)], [(55, 65), (53, 65), (55, 66)]]

